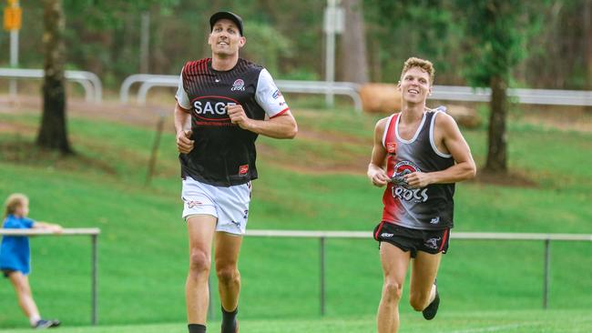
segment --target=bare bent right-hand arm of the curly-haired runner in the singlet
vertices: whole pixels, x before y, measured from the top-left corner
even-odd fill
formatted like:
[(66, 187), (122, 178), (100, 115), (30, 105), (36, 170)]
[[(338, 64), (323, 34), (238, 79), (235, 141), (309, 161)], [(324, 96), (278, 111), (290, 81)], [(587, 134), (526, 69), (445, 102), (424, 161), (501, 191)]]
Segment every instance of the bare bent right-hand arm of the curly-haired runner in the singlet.
[[(441, 135), (435, 134), (436, 130)], [(440, 113), (436, 117), (434, 137), (442, 143), (442, 145), (436, 143), (436, 146), (444, 146), (446, 152), (453, 156), (456, 164), (442, 171), (429, 173), (413, 172), (412, 174), (405, 175), (405, 180), (411, 187), (456, 183), (475, 177), (476, 166), (471, 155), (471, 149), (464, 140), (452, 116)]]

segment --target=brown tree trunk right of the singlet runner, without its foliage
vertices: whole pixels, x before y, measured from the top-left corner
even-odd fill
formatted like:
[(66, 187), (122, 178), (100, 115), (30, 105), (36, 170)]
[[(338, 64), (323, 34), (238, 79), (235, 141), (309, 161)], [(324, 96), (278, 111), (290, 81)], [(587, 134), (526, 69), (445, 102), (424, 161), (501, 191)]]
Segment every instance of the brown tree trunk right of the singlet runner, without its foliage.
[(489, 146), (485, 170), (507, 172), (507, 142), (505, 116), (507, 115), (507, 84), (500, 76), (491, 79), (491, 102), (489, 116)]

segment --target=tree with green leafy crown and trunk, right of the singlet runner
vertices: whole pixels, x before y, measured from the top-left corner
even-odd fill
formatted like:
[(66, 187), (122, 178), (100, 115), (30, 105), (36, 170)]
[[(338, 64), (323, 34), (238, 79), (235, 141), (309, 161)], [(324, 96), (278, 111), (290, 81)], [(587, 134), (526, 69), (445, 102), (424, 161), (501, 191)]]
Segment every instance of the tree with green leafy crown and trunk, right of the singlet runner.
[(512, 69), (526, 57), (526, 40), (536, 29), (522, 0), (459, 0), (469, 43), (468, 81), (491, 88), (488, 150), (485, 170), (507, 172), (507, 87)]

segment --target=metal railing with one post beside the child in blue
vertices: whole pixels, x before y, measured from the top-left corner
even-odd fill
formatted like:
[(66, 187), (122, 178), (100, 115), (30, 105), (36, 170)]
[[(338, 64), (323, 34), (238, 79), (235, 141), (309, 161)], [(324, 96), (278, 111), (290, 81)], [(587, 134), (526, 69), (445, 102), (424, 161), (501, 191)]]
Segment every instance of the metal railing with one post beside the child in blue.
[(97, 227), (89, 228), (65, 228), (61, 233), (45, 229), (3, 229), (0, 228), (0, 235), (3, 236), (90, 236), (91, 240), (91, 313), (92, 325), (97, 325), (97, 240), (101, 230)]

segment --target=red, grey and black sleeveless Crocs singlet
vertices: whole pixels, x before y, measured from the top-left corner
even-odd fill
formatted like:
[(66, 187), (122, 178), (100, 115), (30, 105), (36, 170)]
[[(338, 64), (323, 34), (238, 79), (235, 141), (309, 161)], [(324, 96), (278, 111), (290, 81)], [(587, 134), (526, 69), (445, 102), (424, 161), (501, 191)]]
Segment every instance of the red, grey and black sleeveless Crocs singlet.
[(402, 178), (415, 171), (427, 173), (454, 166), (454, 158), (438, 151), (434, 144), (434, 123), (439, 112), (424, 112), (410, 140), (399, 136), (401, 114), (389, 117), (383, 146), (387, 152), (386, 173), (394, 181), (384, 190), (383, 221), (424, 230), (453, 227), (454, 183), (411, 188)]

